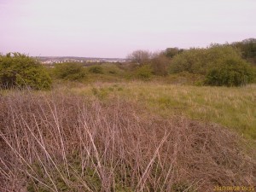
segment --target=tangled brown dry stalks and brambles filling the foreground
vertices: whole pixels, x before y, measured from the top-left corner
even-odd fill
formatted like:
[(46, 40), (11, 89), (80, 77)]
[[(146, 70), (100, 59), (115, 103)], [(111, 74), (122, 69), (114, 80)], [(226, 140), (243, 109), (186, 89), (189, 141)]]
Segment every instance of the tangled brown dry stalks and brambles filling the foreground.
[(0, 97), (1, 191), (212, 191), (256, 183), (255, 150), (223, 127), (131, 102)]

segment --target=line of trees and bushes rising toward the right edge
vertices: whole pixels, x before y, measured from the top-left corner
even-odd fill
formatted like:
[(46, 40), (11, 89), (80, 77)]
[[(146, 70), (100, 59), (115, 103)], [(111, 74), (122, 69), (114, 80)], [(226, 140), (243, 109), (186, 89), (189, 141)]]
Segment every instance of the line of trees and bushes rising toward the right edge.
[[(201, 84), (240, 86), (253, 82), (256, 68), (256, 39), (233, 44), (211, 44), (207, 48), (167, 48), (160, 53), (136, 50), (127, 58), (155, 75), (192, 73), (204, 77)], [(146, 67), (148, 66), (148, 67)]]

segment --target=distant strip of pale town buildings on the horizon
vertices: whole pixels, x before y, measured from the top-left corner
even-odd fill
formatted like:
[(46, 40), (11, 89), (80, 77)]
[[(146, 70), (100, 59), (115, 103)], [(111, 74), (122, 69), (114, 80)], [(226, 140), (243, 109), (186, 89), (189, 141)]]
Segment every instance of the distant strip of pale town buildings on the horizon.
[(74, 57), (74, 56), (65, 56), (65, 57), (53, 57), (53, 56), (39, 56), (36, 59), (44, 65), (54, 65), (56, 63), (63, 62), (81, 62), (84, 64), (92, 63), (102, 63), (102, 62), (115, 62), (123, 63), (127, 61), (124, 58), (94, 58), (94, 57)]

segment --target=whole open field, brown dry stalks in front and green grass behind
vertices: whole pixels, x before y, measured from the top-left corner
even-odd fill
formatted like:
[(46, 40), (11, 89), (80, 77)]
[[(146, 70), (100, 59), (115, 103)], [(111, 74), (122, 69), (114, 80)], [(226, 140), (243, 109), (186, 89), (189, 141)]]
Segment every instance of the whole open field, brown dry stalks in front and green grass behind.
[(2, 90), (0, 190), (203, 192), (256, 182), (255, 84), (113, 80)]

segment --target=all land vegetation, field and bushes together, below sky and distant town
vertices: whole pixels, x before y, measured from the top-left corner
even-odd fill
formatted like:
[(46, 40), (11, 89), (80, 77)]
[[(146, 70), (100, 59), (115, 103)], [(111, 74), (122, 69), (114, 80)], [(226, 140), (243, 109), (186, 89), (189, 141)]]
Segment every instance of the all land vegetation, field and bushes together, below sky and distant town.
[(255, 44), (90, 66), (0, 55), (0, 191), (253, 187)]

